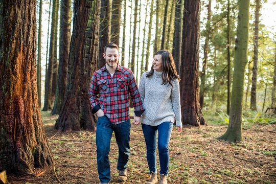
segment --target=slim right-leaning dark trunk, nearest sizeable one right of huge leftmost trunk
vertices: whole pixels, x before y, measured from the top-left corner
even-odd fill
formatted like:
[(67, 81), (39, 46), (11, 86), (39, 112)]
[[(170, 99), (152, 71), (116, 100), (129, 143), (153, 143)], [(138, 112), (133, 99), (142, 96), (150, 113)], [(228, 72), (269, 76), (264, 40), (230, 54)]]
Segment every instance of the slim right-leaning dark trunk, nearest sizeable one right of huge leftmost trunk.
[(56, 22), (56, 9), (58, 0), (53, 0), (52, 8), (52, 23), (51, 23), (51, 37), (50, 37), (50, 48), (49, 48), (49, 60), (48, 60), (48, 70), (45, 79), (45, 94), (44, 94), (44, 107), (43, 111), (51, 109), (51, 97), (52, 97), (52, 84), (53, 84), (53, 64), (54, 64), (54, 54), (55, 54), (55, 22)]

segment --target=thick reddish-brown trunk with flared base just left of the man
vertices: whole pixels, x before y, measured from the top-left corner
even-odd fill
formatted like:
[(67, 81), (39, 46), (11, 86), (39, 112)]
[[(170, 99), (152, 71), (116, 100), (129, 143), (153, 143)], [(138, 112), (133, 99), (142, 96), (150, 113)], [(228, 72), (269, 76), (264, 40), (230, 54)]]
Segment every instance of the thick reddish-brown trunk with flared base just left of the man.
[(66, 94), (55, 128), (59, 131), (96, 130), (91, 113), (89, 86), (98, 66), (100, 0), (74, 2)]

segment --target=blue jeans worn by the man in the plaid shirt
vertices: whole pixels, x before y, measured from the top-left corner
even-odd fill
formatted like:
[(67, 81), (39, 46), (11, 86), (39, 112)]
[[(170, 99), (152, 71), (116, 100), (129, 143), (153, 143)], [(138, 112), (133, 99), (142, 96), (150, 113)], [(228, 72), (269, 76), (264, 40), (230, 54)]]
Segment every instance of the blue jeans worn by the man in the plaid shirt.
[(108, 154), (110, 151), (110, 140), (113, 131), (115, 133), (116, 142), (119, 147), (117, 169), (119, 171), (124, 171), (126, 169), (130, 155), (130, 126), (131, 125), (129, 120), (118, 125), (114, 125), (106, 116), (98, 118), (96, 129), (96, 145), (98, 174), (101, 183), (108, 183), (110, 181), (110, 165)]

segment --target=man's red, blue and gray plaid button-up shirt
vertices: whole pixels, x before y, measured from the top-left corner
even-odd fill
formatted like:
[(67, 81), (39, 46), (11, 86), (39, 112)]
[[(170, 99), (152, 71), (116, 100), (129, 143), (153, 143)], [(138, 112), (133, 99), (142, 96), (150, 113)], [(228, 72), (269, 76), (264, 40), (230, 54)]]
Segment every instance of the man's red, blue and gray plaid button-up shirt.
[(94, 73), (89, 89), (92, 112), (104, 111), (111, 123), (119, 124), (129, 119), (129, 93), (136, 116), (144, 112), (133, 73), (118, 64), (111, 78), (106, 65)]

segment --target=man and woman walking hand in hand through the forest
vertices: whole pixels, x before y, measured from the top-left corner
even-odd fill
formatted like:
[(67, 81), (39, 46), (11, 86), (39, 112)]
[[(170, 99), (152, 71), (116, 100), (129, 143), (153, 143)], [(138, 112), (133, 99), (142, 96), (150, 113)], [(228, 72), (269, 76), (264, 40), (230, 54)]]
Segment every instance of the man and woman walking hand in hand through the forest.
[(129, 94), (134, 107), (135, 125), (142, 123), (147, 147), (147, 161), (151, 173), (150, 183), (157, 183), (156, 134), (160, 163), (159, 183), (167, 183), (169, 169), (169, 141), (176, 119), (181, 131), (179, 77), (169, 51), (161, 50), (152, 58), (149, 72), (145, 72), (139, 89), (131, 70), (121, 66), (119, 48), (114, 43), (105, 46), (106, 64), (94, 73), (89, 89), (92, 112), (97, 113), (97, 164), (101, 183), (110, 181), (108, 154), (114, 131), (119, 148), (118, 181), (127, 180), (127, 162), (130, 155)]

